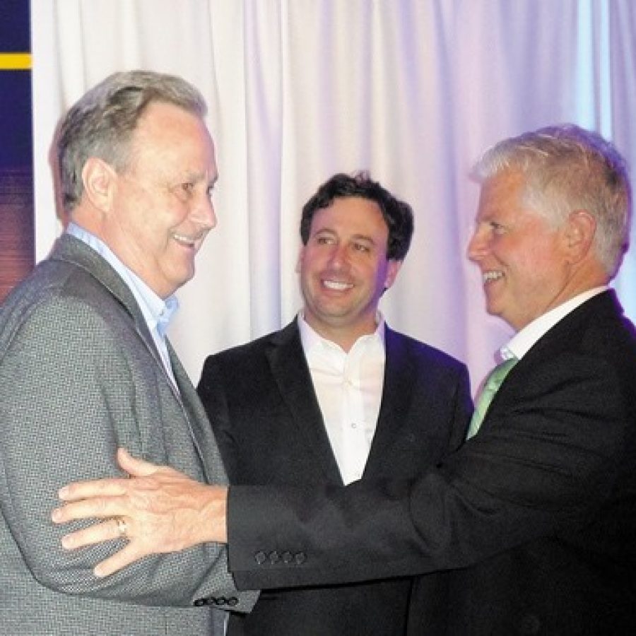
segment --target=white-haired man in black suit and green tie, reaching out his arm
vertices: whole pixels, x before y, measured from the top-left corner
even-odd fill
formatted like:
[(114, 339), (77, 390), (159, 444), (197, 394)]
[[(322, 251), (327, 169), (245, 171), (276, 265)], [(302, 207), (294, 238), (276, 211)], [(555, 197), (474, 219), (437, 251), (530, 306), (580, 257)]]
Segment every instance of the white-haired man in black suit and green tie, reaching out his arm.
[[(105, 506), (130, 515), (140, 535), (152, 522), (154, 548), (137, 541), (139, 558), (182, 527), (167, 504), (192, 510), (196, 492), (189, 536), (179, 539), (229, 537), (239, 586), (449, 570), (447, 614), (419, 633), (633, 633), (636, 334), (608, 288), (630, 236), (625, 164), (599, 135), (563, 125), (498, 143), (477, 174), (469, 257), (488, 311), (517, 331), (502, 357), (518, 361), (481, 428), (476, 420), (476, 434), (442, 466), (380, 488), (239, 486), (224, 502), (225, 488), (202, 493), (126, 457), (139, 481), (75, 485), (71, 500), (100, 496), (73, 504), (67, 518)], [(151, 512), (130, 498), (148, 482), (162, 493)], [(263, 558), (273, 548), (293, 558), (273, 564)], [(118, 566), (130, 561), (117, 557)]]

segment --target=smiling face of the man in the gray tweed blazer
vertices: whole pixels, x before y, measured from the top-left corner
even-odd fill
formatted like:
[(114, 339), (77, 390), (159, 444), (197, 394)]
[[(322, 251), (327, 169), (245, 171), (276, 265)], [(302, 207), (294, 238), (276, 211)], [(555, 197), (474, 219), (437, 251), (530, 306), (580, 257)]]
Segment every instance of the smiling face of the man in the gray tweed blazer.
[(204, 122), (174, 105), (149, 105), (134, 133), (129, 168), (110, 179), (99, 235), (167, 298), (192, 278), (196, 252), (216, 225), (210, 199), (216, 160)]

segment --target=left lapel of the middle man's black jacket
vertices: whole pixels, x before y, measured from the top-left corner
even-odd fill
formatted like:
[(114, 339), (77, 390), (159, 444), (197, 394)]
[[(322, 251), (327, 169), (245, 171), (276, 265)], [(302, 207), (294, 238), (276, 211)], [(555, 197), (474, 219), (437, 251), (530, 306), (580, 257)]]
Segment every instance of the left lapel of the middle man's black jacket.
[(305, 438), (307, 448), (316, 455), (327, 480), (342, 485), (295, 319), (273, 334), (265, 355), (278, 391), (292, 414), (294, 425)]

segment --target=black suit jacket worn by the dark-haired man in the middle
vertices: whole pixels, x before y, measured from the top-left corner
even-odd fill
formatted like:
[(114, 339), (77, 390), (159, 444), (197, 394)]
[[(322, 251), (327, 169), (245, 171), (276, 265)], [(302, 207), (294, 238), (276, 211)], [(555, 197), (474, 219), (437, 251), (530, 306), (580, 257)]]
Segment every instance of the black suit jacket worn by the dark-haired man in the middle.
[[(448, 355), (386, 330), (384, 390), (364, 481), (413, 478), (464, 440), (471, 404), (466, 368)], [(302, 351), (298, 323), (211, 355), (199, 395), (230, 481), (343, 485)], [(272, 562), (289, 555), (269, 546)], [(401, 635), (410, 578), (264, 593), (249, 616), (232, 616), (229, 635)], [(418, 584), (442, 602), (435, 577)], [(418, 596), (419, 598), (419, 596)]]

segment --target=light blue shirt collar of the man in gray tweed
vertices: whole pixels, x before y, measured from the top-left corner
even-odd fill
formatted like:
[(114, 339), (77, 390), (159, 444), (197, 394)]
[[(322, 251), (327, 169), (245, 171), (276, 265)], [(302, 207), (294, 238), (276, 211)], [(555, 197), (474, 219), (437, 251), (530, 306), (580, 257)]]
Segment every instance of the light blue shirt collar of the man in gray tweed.
[(112, 266), (114, 271), (122, 277), (124, 283), (126, 283), (133, 293), (143, 314), (143, 319), (148, 325), (148, 329), (151, 331), (156, 329), (158, 334), (164, 338), (170, 321), (175, 316), (177, 309), (179, 309), (177, 297), (171, 295), (166, 300), (160, 298), (134, 271), (126, 267), (122, 261), (119, 260), (105, 242), (96, 237), (92, 232), (81, 228), (76, 223), (69, 223), (66, 232), (81, 240), (83, 243), (86, 243), (88, 247), (92, 247), (95, 252), (100, 254), (100, 256)]

